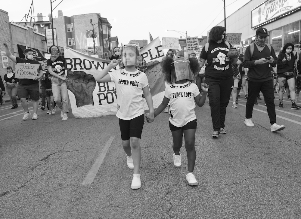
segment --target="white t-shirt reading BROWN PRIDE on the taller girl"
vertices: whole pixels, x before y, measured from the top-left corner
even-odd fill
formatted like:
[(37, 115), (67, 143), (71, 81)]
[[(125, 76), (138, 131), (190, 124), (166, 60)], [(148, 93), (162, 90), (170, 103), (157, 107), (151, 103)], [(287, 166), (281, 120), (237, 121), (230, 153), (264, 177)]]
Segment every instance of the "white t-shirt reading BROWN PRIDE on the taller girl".
[(142, 71), (117, 69), (109, 73), (117, 91), (117, 114), (119, 119), (131, 120), (144, 114), (143, 90), (148, 85)]

